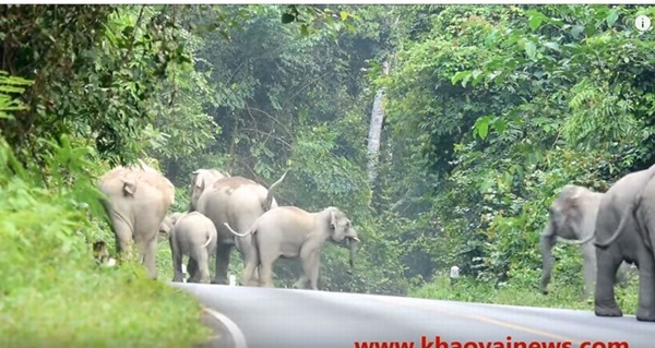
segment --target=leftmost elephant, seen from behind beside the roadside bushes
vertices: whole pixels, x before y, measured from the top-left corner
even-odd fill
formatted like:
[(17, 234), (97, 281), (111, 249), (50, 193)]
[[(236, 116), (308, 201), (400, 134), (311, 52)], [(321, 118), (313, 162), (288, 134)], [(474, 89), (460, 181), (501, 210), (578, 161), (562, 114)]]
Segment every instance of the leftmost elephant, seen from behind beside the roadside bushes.
[(118, 166), (100, 178), (103, 206), (110, 218), (116, 248), (121, 255), (131, 254), (132, 242), (139, 260), (151, 278), (157, 278), (157, 235), (162, 220), (175, 203), (175, 187), (158, 170), (142, 160), (139, 165)]

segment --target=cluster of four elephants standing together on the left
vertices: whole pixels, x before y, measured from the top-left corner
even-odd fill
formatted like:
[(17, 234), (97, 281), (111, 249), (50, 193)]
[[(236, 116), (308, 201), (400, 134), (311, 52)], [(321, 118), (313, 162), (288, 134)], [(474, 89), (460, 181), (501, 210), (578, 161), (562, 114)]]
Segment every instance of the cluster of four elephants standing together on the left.
[[(278, 206), (273, 191), (287, 172), (266, 189), (243, 177), (198, 169), (191, 173), (189, 208), (176, 213), (169, 212), (175, 187), (143, 161), (110, 170), (100, 178), (99, 189), (119, 256), (131, 254), (135, 244), (152, 278), (157, 277), (157, 237), (164, 232), (171, 249), (172, 281), (182, 281), (182, 256), (188, 255), (188, 281), (228, 284), (227, 268), (236, 247), (245, 261), (241, 285), (273, 287), (277, 259), (299, 257), (302, 276), (296, 287), (315, 290), (324, 242), (348, 245), (353, 267), (359, 238), (337, 207), (310, 213)], [(214, 255), (215, 276), (211, 278)]]

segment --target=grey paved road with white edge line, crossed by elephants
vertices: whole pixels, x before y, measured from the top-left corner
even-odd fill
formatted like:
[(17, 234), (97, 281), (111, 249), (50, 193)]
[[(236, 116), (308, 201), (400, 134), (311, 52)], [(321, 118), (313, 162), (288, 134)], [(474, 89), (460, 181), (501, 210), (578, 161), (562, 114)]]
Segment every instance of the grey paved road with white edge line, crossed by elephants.
[[(364, 348), (364, 341), (388, 341), (384, 346), (369, 345), (370, 348), (655, 347), (655, 323), (638, 322), (632, 315), (597, 317), (590, 311), (311, 290), (171, 285), (196, 296), (222, 319), (223, 348), (356, 348), (356, 343)], [(436, 336), (448, 345), (437, 345)], [(401, 345), (389, 345), (392, 341)], [(475, 344), (466, 345), (467, 341)], [(532, 341), (539, 344), (531, 345)], [(571, 344), (565, 345), (567, 341)], [(585, 346), (585, 341), (595, 345)], [(618, 341), (629, 346), (610, 345)]]

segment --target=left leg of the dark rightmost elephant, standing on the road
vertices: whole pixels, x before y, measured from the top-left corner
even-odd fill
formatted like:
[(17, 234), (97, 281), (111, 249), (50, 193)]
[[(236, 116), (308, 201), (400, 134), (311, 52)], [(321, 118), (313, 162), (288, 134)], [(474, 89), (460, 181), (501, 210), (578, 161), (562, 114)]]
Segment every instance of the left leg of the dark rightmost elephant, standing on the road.
[(608, 249), (596, 249), (596, 293), (595, 310), (597, 316), (623, 316), (615, 297), (617, 269), (621, 264), (622, 255), (618, 245)]

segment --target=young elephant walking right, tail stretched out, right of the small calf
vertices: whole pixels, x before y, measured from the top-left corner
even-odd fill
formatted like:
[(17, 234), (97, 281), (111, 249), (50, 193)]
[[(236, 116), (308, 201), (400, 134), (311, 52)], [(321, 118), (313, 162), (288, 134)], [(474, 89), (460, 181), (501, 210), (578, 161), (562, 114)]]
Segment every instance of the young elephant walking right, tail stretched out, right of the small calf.
[(297, 288), (318, 290), (321, 249), (329, 239), (335, 243), (346, 242), (350, 248), (350, 272), (360, 240), (348, 217), (337, 207), (326, 207), (309, 213), (295, 206), (272, 208), (260, 216), (243, 233), (238, 233), (228, 224), (225, 226), (236, 236), (252, 236), (257, 257), (248, 260), (245, 277), (252, 277), (260, 268), (260, 286), (273, 286), (273, 264), (278, 257), (300, 257), (302, 277)]

